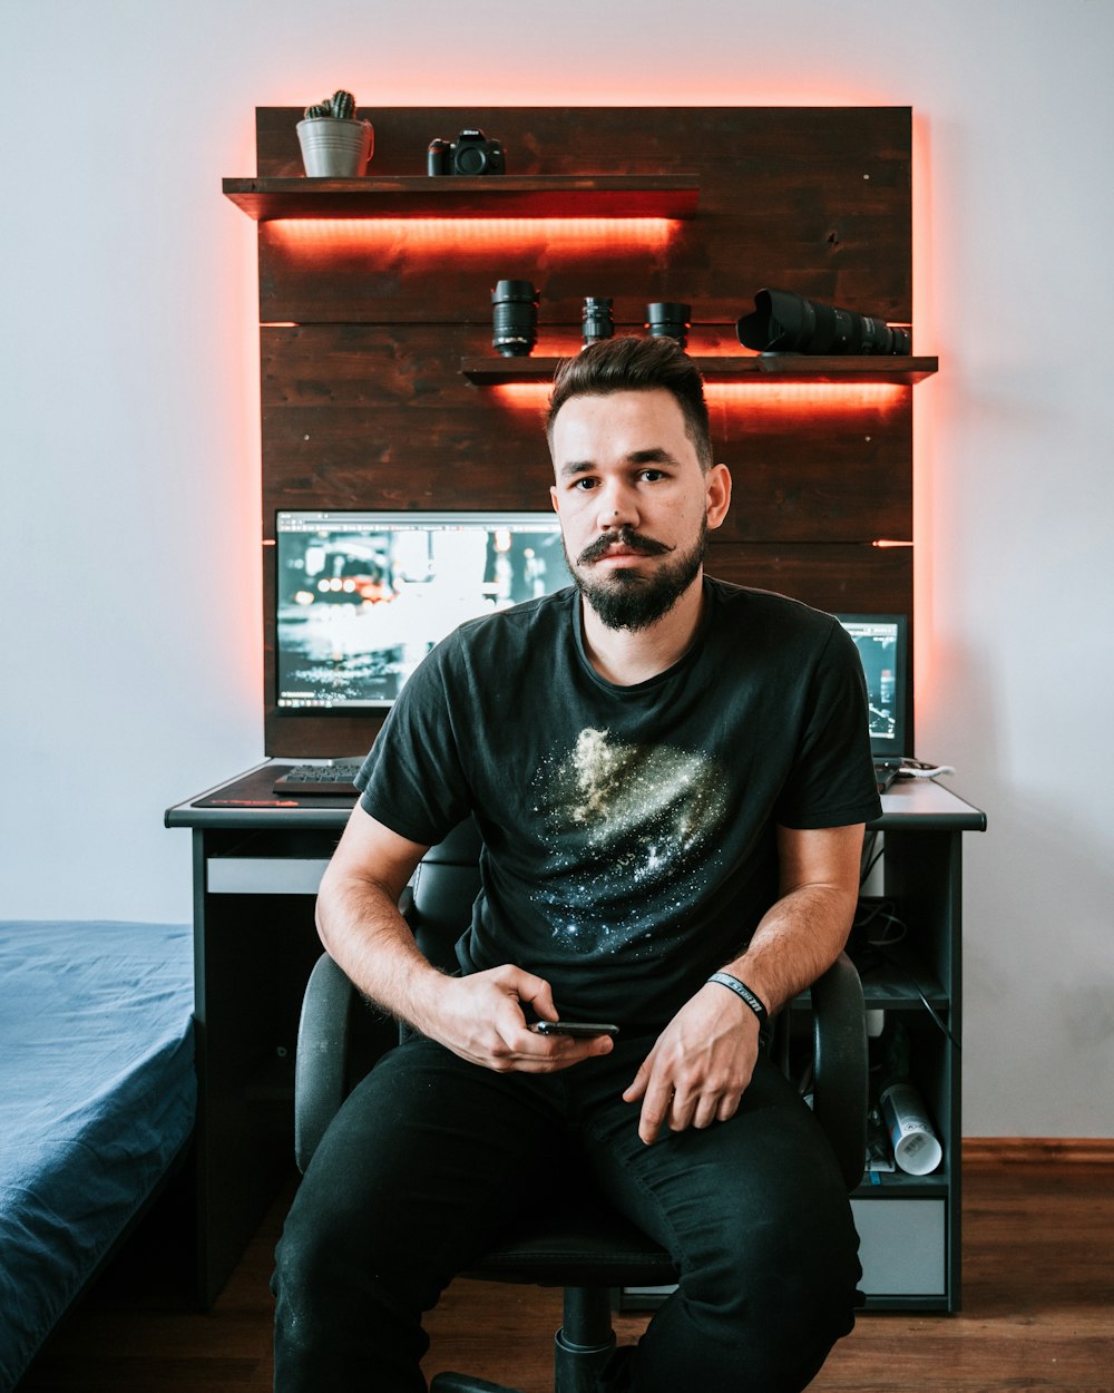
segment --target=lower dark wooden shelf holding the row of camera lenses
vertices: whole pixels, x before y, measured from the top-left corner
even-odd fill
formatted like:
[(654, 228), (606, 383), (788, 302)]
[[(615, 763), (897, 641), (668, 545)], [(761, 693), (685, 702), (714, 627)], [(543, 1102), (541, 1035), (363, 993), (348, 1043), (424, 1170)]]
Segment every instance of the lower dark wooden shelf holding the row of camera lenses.
[[(469, 382), (493, 387), (508, 382), (546, 382), (560, 358), (461, 358), (461, 372)], [(810, 358), (776, 354), (770, 357), (721, 354), (692, 359), (707, 382), (841, 382), (894, 383), (912, 386), (940, 368), (939, 358)]]

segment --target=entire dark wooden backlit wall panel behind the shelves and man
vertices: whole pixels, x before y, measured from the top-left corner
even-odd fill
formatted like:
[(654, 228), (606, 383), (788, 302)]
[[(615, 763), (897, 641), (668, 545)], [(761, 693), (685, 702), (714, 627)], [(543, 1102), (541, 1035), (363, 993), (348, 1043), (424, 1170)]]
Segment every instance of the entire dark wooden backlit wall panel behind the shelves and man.
[[(575, 352), (586, 294), (620, 332), (645, 305), (692, 305), (693, 354), (739, 352), (734, 320), (763, 286), (907, 323), (912, 304), (911, 113), (902, 107), (395, 109), (369, 174), (425, 173), (434, 135), (478, 124), (508, 173), (692, 174), (691, 220), (515, 219), (259, 224), (262, 535), (281, 508), (544, 508), (544, 389), (478, 386), (493, 357), (490, 287), (542, 293), (539, 354)], [(291, 107), (258, 111), (259, 176), (299, 176)], [(397, 210), (395, 210), (397, 215)], [(912, 614), (912, 387), (855, 391), (709, 382), (717, 458), (735, 482), (709, 571), (822, 609)], [(265, 546), (270, 754), (366, 749), (376, 716), (277, 715), (273, 546)]]

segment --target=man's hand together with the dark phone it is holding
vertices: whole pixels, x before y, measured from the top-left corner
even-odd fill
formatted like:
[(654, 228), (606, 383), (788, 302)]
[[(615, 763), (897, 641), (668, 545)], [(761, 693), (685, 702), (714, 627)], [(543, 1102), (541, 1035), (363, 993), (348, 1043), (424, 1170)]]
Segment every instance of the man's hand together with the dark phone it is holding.
[(556, 1021), (549, 982), (521, 968), (496, 967), (468, 976), (441, 976), (423, 989), (419, 1029), (461, 1059), (496, 1073), (551, 1074), (593, 1055), (607, 1055), (611, 1039), (596, 1035), (538, 1035), (522, 1003), (543, 1021)]

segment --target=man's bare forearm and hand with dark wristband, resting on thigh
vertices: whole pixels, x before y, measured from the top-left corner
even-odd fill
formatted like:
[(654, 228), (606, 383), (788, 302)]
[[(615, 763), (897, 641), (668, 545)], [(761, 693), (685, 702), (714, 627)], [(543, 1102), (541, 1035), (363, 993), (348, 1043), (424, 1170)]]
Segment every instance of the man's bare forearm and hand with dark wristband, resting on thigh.
[[(780, 893), (741, 957), (724, 972), (770, 1013), (815, 982), (847, 943), (859, 890), (863, 823), (777, 829)], [(659, 1035), (622, 1095), (642, 1100), (639, 1135), (725, 1121), (751, 1082), (759, 1018), (734, 990), (707, 982)]]

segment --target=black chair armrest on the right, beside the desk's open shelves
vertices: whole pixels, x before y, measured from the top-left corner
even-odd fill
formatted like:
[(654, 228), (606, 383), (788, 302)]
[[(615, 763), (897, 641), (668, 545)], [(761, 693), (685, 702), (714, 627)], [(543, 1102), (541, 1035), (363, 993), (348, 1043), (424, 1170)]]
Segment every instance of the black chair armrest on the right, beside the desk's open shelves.
[(866, 1009), (855, 964), (841, 953), (812, 983), (813, 1112), (854, 1190), (866, 1166)]

